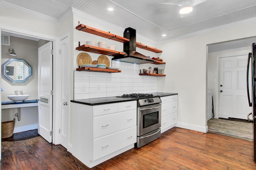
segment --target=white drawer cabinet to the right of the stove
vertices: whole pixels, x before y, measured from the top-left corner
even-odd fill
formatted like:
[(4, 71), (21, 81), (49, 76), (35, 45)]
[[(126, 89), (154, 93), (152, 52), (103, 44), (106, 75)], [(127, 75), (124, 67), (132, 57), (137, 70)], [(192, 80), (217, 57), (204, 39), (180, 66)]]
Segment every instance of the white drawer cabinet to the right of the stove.
[(161, 133), (172, 128), (177, 123), (178, 95), (160, 97), (161, 106)]

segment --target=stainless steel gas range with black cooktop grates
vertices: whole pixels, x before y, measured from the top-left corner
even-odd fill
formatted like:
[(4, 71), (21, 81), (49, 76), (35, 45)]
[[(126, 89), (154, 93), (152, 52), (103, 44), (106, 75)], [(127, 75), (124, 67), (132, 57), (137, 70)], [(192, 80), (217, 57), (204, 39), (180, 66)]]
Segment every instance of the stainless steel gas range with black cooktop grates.
[(118, 97), (137, 99), (137, 143), (140, 148), (161, 137), (161, 99), (152, 94), (124, 94)]

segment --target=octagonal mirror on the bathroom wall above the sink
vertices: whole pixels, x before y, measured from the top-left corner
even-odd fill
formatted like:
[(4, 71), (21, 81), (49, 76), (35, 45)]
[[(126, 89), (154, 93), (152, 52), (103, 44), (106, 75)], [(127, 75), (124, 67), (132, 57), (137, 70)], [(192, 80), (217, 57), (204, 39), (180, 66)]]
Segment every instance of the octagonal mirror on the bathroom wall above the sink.
[(10, 58), (2, 64), (2, 76), (12, 83), (25, 83), (32, 77), (32, 65), (25, 59)]

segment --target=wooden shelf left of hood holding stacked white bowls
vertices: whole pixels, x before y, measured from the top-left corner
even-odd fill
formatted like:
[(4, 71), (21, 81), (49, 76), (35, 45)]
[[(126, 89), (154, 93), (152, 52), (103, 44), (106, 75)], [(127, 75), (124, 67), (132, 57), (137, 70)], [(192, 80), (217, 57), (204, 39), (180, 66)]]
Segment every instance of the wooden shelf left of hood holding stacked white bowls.
[(86, 44), (78, 46), (76, 47), (76, 49), (79, 51), (87, 51), (91, 53), (98, 53), (98, 54), (109, 55), (109, 56), (125, 55), (125, 53), (123, 52), (114, 51), (106, 48), (100, 48), (92, 45), (86, 45)]

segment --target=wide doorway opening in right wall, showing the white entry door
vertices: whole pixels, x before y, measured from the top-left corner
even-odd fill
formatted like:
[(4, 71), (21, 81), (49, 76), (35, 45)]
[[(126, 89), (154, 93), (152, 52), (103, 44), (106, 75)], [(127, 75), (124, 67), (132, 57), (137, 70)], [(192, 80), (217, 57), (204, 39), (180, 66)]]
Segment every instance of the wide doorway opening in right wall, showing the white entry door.
[[(213, 96), (212, 119), (239, 119), (246, 122), (247, 115), (251, 112), (246, 91), (246, 67), (248, 53), (251, 52), (254, 41), (255, 37), (251, 37), (208, 45), (207, 88)], [(229, 122), (226, 123), (226, 127), (228, 126)], [(209, 126), (208, 130), (210, 131)], [(240, 133), (242, 134), (241, 131)]]

